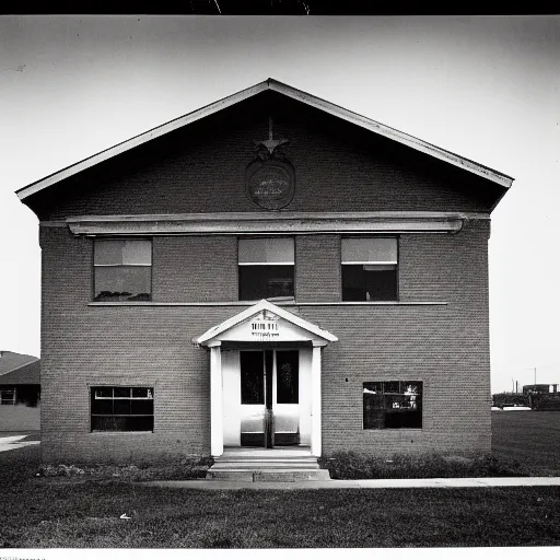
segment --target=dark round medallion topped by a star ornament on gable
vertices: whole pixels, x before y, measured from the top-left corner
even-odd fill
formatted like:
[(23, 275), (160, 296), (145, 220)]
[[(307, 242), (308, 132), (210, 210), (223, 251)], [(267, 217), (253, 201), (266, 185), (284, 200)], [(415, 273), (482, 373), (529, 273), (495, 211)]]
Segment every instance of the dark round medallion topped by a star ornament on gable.
[(253, 202), (267, 210), (287, 207), (295, 191), (293, 165), (277, 149), (288, 143), (272, 137), (272, 118), (269, 118), (268, 140), (256, 142), (257, 158), (247, 165), (246, 191)]

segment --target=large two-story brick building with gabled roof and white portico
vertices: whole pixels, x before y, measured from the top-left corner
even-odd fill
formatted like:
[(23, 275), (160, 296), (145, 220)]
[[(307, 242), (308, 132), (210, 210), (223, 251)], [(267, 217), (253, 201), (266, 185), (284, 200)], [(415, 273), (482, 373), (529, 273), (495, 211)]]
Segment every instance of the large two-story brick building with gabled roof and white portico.
[(267, 80), (21, 189), (44, 460), (489, 452), (512, 180)]

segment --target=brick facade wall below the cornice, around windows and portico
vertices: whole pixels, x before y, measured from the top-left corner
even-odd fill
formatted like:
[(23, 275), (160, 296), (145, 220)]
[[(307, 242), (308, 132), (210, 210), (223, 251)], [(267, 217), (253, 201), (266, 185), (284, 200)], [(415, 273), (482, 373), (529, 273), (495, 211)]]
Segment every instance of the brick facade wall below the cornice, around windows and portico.
[[(324, 350), (325, 454), (489, 451), (488, 234), (487, 221), (472, 221), (455, 235), (400, 237), (401, 300), (447, 305), (289, 307), (339, 338)], [(156, 238), (154, 269), (166, 272), (154, 270), (154, 299), (235, 300), (232, 240)], [(191, 339), (241, 308), (88, 306), (91, 240), (43, 226), (40, 243), (44, 460), (209, 453), (209, 357)], [(332, 235), (296, 236), (299, 301), (340, 300), (338, 245)], [(398, 378), (423, 381), (423, 429), (362, 430), (363, 382)], [(153, 386), (154, 432), (91, 433), (89, 386), (98, 384)]]

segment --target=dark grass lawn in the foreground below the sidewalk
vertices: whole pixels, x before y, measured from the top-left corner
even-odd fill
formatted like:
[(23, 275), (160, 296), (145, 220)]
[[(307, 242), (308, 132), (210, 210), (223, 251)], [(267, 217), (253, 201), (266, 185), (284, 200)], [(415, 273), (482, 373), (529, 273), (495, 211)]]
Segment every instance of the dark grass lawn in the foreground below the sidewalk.
[(0, 453), (0, 548), (560, 545), (560, 488), (205, 492), (38, 463), (38, 446)]

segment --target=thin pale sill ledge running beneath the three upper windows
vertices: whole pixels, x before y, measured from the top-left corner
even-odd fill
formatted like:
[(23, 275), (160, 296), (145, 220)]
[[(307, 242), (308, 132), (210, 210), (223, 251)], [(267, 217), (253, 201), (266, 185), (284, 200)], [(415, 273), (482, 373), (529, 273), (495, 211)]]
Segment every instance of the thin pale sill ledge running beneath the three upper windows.
[[(89, 302), (89, 307), (248, 307), (256, 301), (235, 302)], [(447, 305), (447, 302), (271, 302), (279, 307), (288, 306), (411, 306), (411, 305)]]

